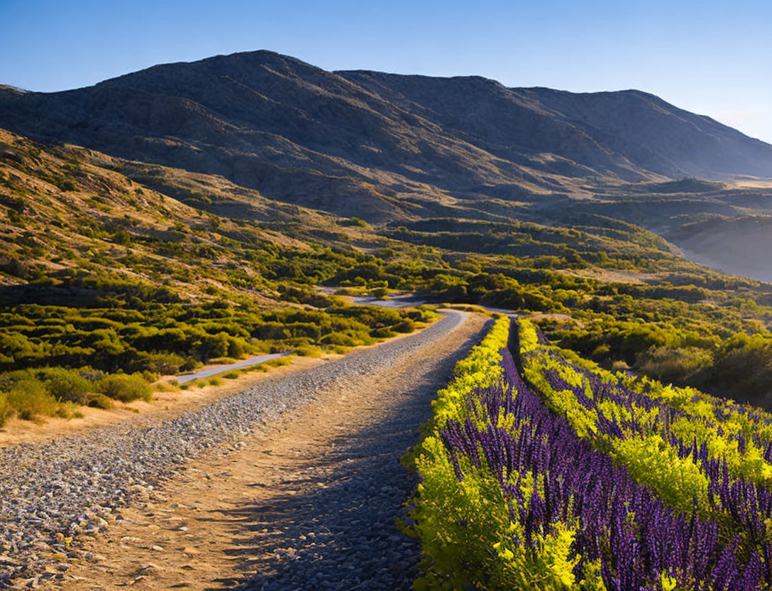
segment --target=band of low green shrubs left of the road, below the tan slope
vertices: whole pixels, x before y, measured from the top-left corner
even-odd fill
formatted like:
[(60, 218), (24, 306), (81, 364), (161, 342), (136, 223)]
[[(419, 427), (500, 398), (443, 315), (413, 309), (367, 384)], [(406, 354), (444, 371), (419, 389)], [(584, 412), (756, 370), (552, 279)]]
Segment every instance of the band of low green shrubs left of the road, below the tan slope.
[[(286, 346), (298, 355), (345, 352), (435, 318), (426, 308), (342, 304), (282, 311), (214, 303), (144, 312), (33, 304), (0, 310), (0, 370), (9, 369), (0, 372), (0, 426), (13, 415), (70, 418), (79, 405), (149, 400), (159, 375), (193, 369), (201, 360)], [(198, 377), (179, 382), (198, 383)]]

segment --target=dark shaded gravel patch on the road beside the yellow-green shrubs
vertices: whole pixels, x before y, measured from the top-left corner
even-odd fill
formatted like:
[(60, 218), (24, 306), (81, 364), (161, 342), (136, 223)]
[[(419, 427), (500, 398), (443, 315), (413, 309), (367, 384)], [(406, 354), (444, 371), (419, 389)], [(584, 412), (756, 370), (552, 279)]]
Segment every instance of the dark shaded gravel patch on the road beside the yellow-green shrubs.
[(413, 438), (415, 430), (384, 442), (365, 436), (337, 452), (345, 457), (339, 469), (347, 477), (324, 466), (310, 468), (303, 477), (315, 481), (317, 490), (245, 507), (244, 515), (265, 515), (260, 536), (281, 533), (265, 541), (275, 544), (268, 572), (236, 589), (411, 589), (421, 543), (401, 533), (394, 521), (417, 484), (398, 462)]

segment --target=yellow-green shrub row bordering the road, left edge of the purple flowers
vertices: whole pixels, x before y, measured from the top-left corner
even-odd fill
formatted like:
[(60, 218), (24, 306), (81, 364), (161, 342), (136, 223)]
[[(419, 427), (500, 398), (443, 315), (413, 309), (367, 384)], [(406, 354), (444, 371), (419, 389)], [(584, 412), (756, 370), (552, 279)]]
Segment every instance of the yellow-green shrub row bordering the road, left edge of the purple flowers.
[(506, 580), (500, 577), (511, 561), (494, 548), (511, 538), (501, 486), (493, 474), (469, 465), (459, 481), (438, 433), (449, 419), (463, 421), (472, 389), (500, 382), (499, 351), (509, 334), (509, 318), (498, 318), (479, 345), (456, 363), (454, 379), (437, 393), (432, 419), (422, 428), (428, 436), (403, 458), (422, 478), (411, 514), (414, 523), (406, 527), (423, 545), (426, 572), (415, 589), (462, 589), (470, 580), (486, 577), (493, 584)]

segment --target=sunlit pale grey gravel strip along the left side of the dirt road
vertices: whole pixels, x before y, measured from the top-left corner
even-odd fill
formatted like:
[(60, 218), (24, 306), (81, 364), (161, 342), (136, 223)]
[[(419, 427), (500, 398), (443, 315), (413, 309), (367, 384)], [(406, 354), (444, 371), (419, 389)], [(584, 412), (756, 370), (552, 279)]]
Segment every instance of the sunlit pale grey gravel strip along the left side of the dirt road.
[[(116, 508), (146, 498), (148, 491), (174, 477), (198, 454), (229, 453), (233, 447), (226, 449), (226, 443), (249, 435), (320, 389), (354, 384), (358, 376), (388, 368), (452, 331), (463, 317), (449, 312), (416, 335), (266, 379), (153, 426), (109, 426), (51, 443), (0, 450), (0, 587), (9, 586), (12, 579), (18, 583), (26, 578), (30, 587), (46, 579), (65, 579), (69, 567), (64, 560), (82, 558), (74, 546), (70, 548), (70, 538), (108, 527), (120, 518)], [(403, 491), (378, 487), (379, 481), (380, 476), (373, 474), (369, 485), (376, 493), (373, 502), (392, 492), (404, 498)], [(388, 562), (390, 555), (378, 559)], [(270, 588), (289, 588), (276, 583), (278, 587)], [(329, 586), (320, 582), (320, 588)]]

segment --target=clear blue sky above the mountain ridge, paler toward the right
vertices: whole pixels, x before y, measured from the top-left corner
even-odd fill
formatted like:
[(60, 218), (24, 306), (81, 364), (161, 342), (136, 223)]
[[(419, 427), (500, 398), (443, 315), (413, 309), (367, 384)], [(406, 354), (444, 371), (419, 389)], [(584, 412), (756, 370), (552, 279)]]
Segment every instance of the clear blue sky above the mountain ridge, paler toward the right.
[(638, 88), (772, 142), (772, 2), (0, 0), (0, 83), (65, 90), (272, 49), (327, 70)]

